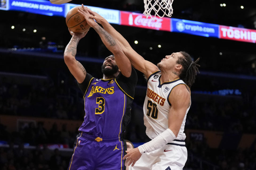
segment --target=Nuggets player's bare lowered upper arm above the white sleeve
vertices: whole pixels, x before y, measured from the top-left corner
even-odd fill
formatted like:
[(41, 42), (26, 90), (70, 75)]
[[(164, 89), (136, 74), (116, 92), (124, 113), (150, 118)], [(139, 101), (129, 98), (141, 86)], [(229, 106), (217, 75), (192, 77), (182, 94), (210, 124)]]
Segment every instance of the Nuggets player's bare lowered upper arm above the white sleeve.
[(175, 136), (178, 135), (183, 119), (190, 104), (190, 93), (186, 85), (179, 85), (172, 89), (169, 101), (171, 108), (169, 111), (168, 126)]

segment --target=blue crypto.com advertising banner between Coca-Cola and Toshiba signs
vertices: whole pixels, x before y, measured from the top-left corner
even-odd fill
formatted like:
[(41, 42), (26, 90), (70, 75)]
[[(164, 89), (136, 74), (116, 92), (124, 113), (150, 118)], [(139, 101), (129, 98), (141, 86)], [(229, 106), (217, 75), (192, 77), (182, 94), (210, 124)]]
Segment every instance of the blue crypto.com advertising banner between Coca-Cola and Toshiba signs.
[(171, 19), (171, 32), (219, 38), (219, 25), (184, 19)]

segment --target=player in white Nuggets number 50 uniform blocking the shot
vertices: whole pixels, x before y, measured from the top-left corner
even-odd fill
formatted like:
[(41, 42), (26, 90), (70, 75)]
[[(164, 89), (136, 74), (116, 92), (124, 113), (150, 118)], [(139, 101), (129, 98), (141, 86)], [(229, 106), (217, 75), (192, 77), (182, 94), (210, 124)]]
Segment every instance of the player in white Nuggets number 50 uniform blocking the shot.
[(82, 7), (79, 12), (87, 22), (95, 19), (102, 24), (135, 69), (147, 77), (144, 124), (146, 134), (152, 140), (127, 151), (123, 159), (132, 164), (131, 169), (181, 170), (187, 160), (184, 126), (191, 105), (189, 87), (195, 81), (199, 58), (193, 62), (189, 54), (176, 52), (165, 56), (156, 66), (136, 53), (102, 16)]

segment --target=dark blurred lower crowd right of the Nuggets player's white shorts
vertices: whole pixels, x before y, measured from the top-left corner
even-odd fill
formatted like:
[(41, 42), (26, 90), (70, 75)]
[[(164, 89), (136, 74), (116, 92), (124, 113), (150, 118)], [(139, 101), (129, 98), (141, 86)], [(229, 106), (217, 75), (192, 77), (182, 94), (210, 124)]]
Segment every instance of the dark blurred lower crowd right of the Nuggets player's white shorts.
[(199, 170), (200, 167), (203, 170), (210, 170), (214, 167), (212, 165), (221, 170), (256, 169), (255, 146), (246, 150), (217, 149), (210, 148), (205, 140), (190, 140), (189, 143), (186, 142), (186, 147), (189, 154), (183, 170)]

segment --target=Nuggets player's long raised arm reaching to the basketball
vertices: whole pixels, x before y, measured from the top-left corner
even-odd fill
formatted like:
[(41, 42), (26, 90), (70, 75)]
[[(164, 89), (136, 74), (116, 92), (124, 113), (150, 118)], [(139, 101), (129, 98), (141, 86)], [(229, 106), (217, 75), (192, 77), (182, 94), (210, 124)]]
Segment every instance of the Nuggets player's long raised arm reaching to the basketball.
[(103, 28), (116, 40), (118, 41), (122, 51), (125, 53), (125, 55), (129, 58), (131, 61), (131, 64), (133, 67), (139, 71), (141, 71), (143, 74), (145, 74), (146, 77), (149, 77), (150, 74), (154, 73), (155, 71), (159, 71), (158, 67), (154, 65), (153, 63), (145, 60), (141, 55), (139, 55), (137, 52), (131, 48), (130, 44), (127, 42), (127, 40), (119, 33), (117, 32), (108, 22), (106, 19), (104, 19), (101, 15), (97, 14), (96, 12), (91, 11), (87, 7), (83, 7), (84, 11), (90, 12), (89, 17), (95, 19), (98, 23), (100, 23)]

